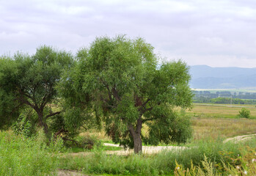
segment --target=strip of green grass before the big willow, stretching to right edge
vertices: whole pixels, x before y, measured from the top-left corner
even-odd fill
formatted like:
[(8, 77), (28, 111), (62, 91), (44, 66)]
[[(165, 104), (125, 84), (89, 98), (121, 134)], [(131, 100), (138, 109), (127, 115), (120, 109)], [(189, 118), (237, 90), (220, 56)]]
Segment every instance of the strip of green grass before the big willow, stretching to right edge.
[(219, 141), (201, 141), (186, 150), (163, 151), (156, 155), (106, 155), (100, 151), (86, 157), (65, 157), (60, 163), (62, 169), (75, 169), (85, 174), (111, 175), (173, 175), (178, 164), (189, 168), (191, 161), (200, 166), (205, 156), (213, 162), (214, 169), (222, 171), (223, 164), (232, 164), (230, 158), (243, 155), (245, 146), (256, 147), (256, 140), (246, 144)]

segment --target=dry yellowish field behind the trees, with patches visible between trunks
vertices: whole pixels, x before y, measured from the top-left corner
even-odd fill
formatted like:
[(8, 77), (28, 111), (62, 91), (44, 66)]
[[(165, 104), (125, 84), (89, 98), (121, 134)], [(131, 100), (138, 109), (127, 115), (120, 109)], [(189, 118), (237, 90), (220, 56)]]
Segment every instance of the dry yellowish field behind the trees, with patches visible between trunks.
[[(233, 136), (256, 133), (256, 108), (255, 105), (234, 105), (243, 106), (251, 111), (251, 117), (255, 119), (237, 118), (241, 107), (227, 105), (202, 105), (194, 104), (194, 109), (188, 111), (192, 117), (192, 127), (194, 129), (194, 140), (205, 138), (227, 139)], [(142, 133), (147, 135), (147, 125), (143, 125)], [(111, 142), (104, 131), (90, 130), (80, 133), (80, 136), (95, 136), (103, 142)]]

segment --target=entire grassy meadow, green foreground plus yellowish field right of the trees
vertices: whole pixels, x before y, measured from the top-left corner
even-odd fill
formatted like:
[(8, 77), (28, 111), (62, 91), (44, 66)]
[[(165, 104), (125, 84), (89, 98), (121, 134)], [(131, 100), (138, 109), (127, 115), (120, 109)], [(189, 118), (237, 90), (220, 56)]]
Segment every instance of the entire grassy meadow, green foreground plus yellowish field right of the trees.
[[(255, 107), (244, 106), (253, 117)], [(103, 142), (111, 139), (97, 130), (83, 131), (79, 136), (80, 140), (100, 141), (92, 150), (65, 147), (61, 139), (46, 145), (42, 131), (32, 138), (1, 131), (0, 175), (58, 175), (59, 169), (84, 175), (254, 175), (256, 139), (223, 143), (233, 136), (256, 133), (256, 119), (238, 118), (240, 110), (241, 107), (194, 104), (194, 109), (188, 111), (194, 135), (182, 144), (187, 148), (152, 155), (109, 155), (106, 150), (120, 148), (104, 147)], [(70, 155), (77, 152), (89, 155)]]

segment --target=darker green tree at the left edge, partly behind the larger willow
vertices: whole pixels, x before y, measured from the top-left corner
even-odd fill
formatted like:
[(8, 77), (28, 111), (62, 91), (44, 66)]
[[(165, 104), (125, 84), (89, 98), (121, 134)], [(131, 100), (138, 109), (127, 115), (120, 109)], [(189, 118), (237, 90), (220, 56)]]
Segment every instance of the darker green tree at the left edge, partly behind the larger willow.
[(15, 54), (0, 59), (1, 125), (18, 117), (24, 108), (34, 109), (37, 122), (48, 134), (48, 119), (61, 111), (53, 111), (57, 100), (56, 84), (63, 70), (73, 65), (73, 56), (48, 46), (37, 48), (36, 54)]

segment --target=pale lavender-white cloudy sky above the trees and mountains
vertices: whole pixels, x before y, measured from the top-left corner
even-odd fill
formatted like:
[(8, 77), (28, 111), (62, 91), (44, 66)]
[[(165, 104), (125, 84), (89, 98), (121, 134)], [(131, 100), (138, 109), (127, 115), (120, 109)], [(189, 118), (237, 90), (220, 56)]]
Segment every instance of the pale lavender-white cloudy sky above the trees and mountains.
[(256, 67), (255, 0), (0, 0), (0, 55), (74, 55), (95, 37), (142, 37), (164, 61)]

